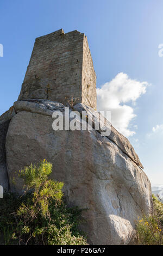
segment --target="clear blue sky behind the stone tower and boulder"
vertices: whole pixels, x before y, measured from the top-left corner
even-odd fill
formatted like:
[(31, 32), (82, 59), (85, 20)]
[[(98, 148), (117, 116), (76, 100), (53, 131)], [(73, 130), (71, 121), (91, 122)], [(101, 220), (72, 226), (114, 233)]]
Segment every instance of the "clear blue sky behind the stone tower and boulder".
[[(119, 84), (120, 91), (114, 96), (123, 112), (125, 106), (133, 111), (133, 117), (127, 117), (127, 130), (135, 134), (128, 138), (145, 172), (152, 183), (163, 184), (163, 57), (158, 56), (158, 46), (163, 43), (162, 21), (162, 0), (1, 0), (4, 56), (0, 57), (0, 114), (17, 100), (35, 38), (60, 28), (65, 33), (77, 29), (89, 40), (101, 93), (105, 84), (112, 98), (109, 88), (117, 83), (118, 74), (126, 77), (132, 92), (145, 87), (143, 93), (135, 92), (135, 101), (134, 95), (122, 99), (120, 91), (127, 91), (126, 83)], [(116, 121), (121, 125), (120, 119)]]

